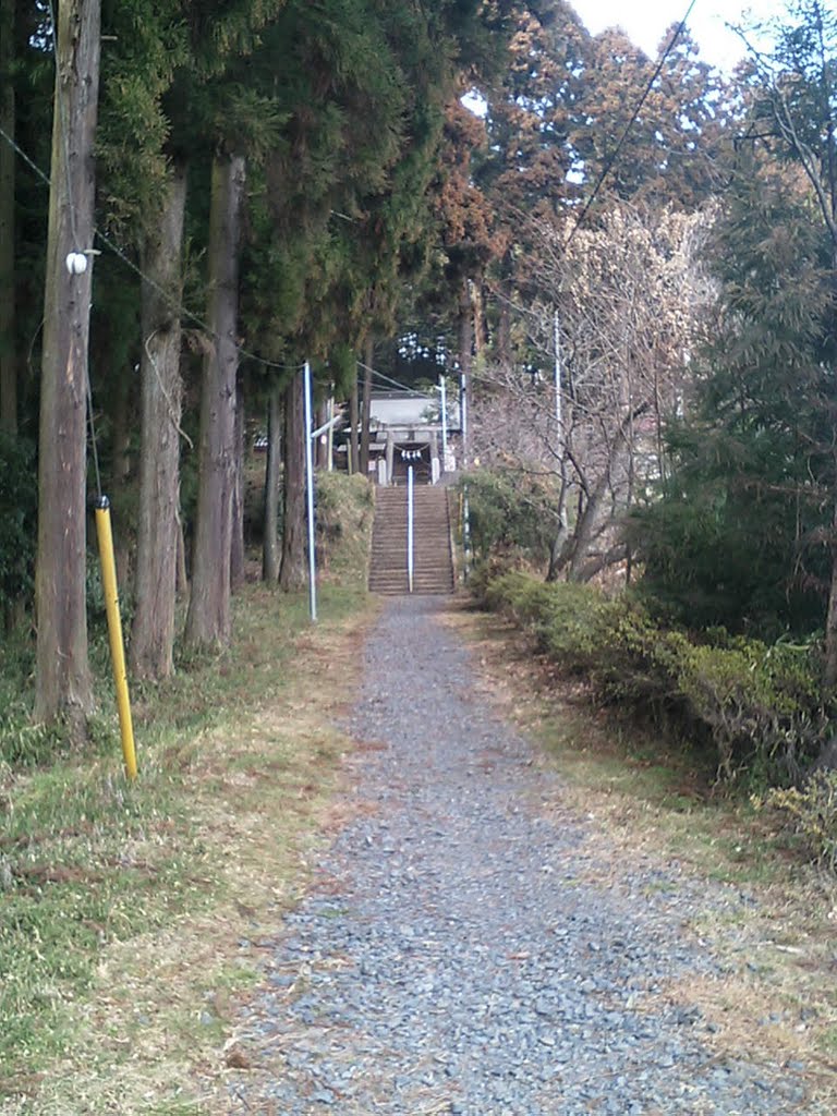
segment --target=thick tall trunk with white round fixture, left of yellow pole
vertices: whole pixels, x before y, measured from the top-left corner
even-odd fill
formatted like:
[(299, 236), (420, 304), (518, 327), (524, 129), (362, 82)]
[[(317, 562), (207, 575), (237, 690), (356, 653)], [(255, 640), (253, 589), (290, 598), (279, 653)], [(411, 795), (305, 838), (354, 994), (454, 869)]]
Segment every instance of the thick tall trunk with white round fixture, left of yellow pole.
[(93, 257), (93, 144), (99, 86), (99, 0), (58, 7), (44, 350), (40, 392), (38, 623), (35, 716), (65, 716), (77, 734), (93, 708), (86, 617), (87, 358)]

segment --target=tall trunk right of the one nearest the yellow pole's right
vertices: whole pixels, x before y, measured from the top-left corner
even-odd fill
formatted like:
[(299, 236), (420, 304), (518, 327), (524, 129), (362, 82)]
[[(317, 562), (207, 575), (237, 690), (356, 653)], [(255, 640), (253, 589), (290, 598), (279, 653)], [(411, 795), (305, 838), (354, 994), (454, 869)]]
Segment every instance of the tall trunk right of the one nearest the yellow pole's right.
[(213, 647), (231, 634), (230, 545), (234, 482), (235, 344), (239, 308), (244, 160), (212, 163), (208, 319), (212, 349), (203, 360), (198, 512), (192, 546), (192, 593), (186, 643)]

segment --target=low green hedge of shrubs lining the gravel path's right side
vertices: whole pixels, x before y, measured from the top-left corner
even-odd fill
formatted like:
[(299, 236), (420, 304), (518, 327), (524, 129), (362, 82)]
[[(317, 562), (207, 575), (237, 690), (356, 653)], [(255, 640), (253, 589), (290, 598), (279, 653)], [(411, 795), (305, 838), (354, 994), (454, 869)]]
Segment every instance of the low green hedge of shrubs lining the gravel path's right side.
[(650, 718), (666, 735), (708, 744), (719, 777), (752, 786), (799, 781), (828, 737), (816, 648), (768, 645), (722, 629), (698, 643), (656, 626), (629, 598), (527, 574), (478, 573), (479, 603), (529, 632), (596, 698)]

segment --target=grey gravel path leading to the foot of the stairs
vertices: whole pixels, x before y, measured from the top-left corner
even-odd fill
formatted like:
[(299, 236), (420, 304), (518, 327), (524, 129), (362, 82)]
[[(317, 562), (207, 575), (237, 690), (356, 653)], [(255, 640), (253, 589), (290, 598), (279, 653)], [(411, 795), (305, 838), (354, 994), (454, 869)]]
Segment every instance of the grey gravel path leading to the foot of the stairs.
[(711, 892), (651, 869), (581, 882), (589, 822), (541, 816), (558, 777), (473, 700), (442, 607), (393, 600), (367, 644), (352, 731), (386, 745), (358, 762), (371, 808), (287, 918), (242, 1019), (271, 1072), (238, 1077), (230, 1112), (819, 1112), (793, 1064), (719, 1059), (696, 1008), (654, 1007), (661, 982), (716, 971), (682, 930)]

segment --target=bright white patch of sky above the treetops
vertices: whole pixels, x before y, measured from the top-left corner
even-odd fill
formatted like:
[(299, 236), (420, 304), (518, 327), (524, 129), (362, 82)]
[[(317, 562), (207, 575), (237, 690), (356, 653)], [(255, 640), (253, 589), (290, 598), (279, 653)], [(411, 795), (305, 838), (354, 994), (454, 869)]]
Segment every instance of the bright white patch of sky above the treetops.
[[(651, 57), (657, 57), (666, 28), (680, 22), (689, 0), (664, 3), (661, 0), (570, 0), (587, 29), (598, 35), (606, 27), (622, 27), (628, 37)], [(698, 40), (704, 61), (731, 69), (743, 56), (741, 40), (725, 23), (745, 22), (748, 13), (757, 20), (783, 10), (780, 0), (696, 0), (686, 25)]]

